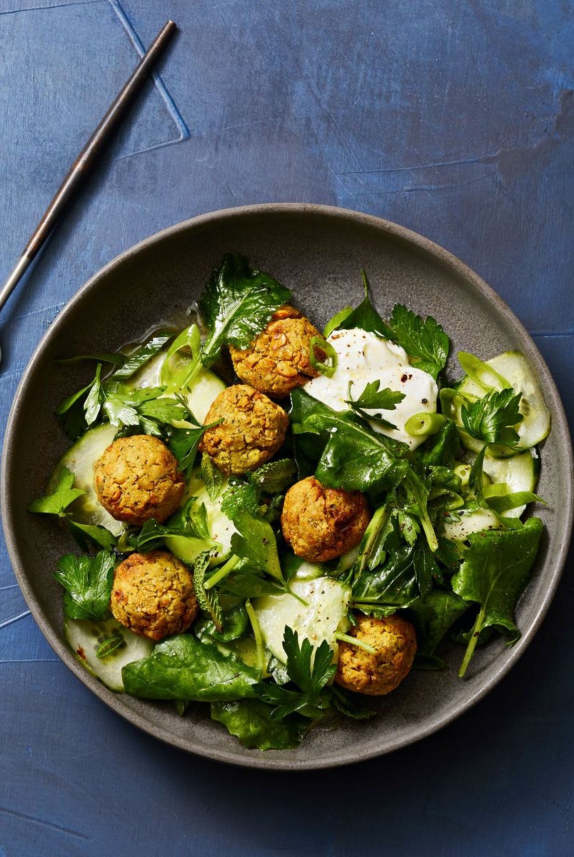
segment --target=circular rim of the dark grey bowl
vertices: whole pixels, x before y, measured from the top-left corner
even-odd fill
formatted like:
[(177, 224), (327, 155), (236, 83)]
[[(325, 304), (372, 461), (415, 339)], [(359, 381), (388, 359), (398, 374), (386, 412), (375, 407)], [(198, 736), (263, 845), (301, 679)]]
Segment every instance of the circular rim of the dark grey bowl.
[(112, 261), (108, 262), (105, 267), (100, 268), (100, 270), (95, 273), (93, 277), (88, 279), (85, 285), (81, 286), (79, 291), (77, 291), (75, 296), (69, 300), (69, 303), (67, 303), (64, 309), (57, 316), (57, 319), (51, 324), (51, 327), (40, 340), (39, 345), (33, 353), (33, 357), (27, 365), (27, 369), (22, 375), (19, 387), (15, 393), (15, 399), (10, 409), (6, 434), (3, 443), (2, 467), (0, 470), (0, 478), (2, 481), (2, 484), (0, 486), (0, 510), (2, 512), (3, 530), (6, 545), (9, 552), (9, 558), (12, 562), (12, 566), (15, 571), (15, 577), (18, 581), (18, 584), (20, 585), (22, 595), (24, 596), (27, 605), (30, 608), (30, 612), (33, 615), (34, 620), (38, 624), (40, 631), (44, 634), (48, 643), (51, 644), (52, 649), (63, 660), (66, 666), (112, 710), (115, 710), (117, 714), (122, 716), (125, 720), (133, 723), (138, 728), (141, 728), (147, 734), (151, 734), (155, 738), (163, 740), (171, 746), (179, 747), (182, 750), (195, 753), (196, 755), (204, 756), (205, 758), (211, 758), (228, 764), (237, 764), (242, 767), (261, 768), (266, 770), (317, 770), (320, 768), (335, 767), (343, 764), (353, 764), (368, 758), (375, 758), (382, 754), (386, 754), (387, 752), (393, 752), (395, 750), (398, 750), (400, 747), (408, 746), (418, 740), (422, 740), (422, 738), (433, 734), (440, 728), (443, 728), (448, 723), (457, 719), (457, 717), (461, 716), (464, 711), (469, 710), (469, 708), (479, 702), (481, 698), (485, 697), (487, 693), (489, 693), (493, 689), (493, 687), (496, 686), (502, 678), (504, 678), (505, 674), (507, 674), (509, 670), (514, 666), (518, 658), (523, 655), (523, 652), (526, 650), (529, 643), (534, 638), (535, 632), (541, 625), (541, 621), (547, 613), (547, 609), (553, 600), (554, 593), (559, 584), (559, 578), (565, 566), (565, 560), (568, 553), (571, 538), (573, 511), (572, 506), (574, 503), (574, 491), (571, 487), (567, 495), (565, 495), (563, 498), (566, 518), (569, 522), (568, 529), (567, 532), (564, 533), (565, 538), (563, 539), (559, 550), (553, 555), (552, 573), (547, 579), (547, 588), (545, 591), (545, 596), (538, 605), (538, 609), (535, 612), (534, 620), (532, 620), (529, 627), (523, 631), (523, 634), (518, 640), (517, 644), (512, 647), (510, 656), (507, 657), (505, 663), (500, 666), (500, 668), (495, 674), (493, 674), (488, 680), (485, 680), (484, 683), (478, 688), (478, 690), (466, 701), (464, 701), (463, 703), (454, 704), (451, 710), (449, 710), (449, 712), (446, 713), (444, 716), (436, 716), (434, 718), (429, 719), (428, 722), (425, 722), (424, 725), (418, 728), (416, 734), (414, 735), (398, 735), (396, 740), (391, 741), (386, 746), (381, 748), (373, 748), (368, 752), (361, 752), (360, 754), (358, 754), (356, 750), (354, 750), (354, 748), (350, 746), (348, 748), (345, 748), (344, 752), (336, 752), (333, 753), (332, 756), (328, 756), (326, 758), (314, 758), (309, 760), (297, 759), (296, 761), (293, 760), (292, 762), (289, 758), (277, 758), (273, 756), (270, 752), (260, 752), (257, 755), (248, 758), (238, 757), (233, 752), (219, 748), (218, 746), (210, 747), (209, 752), (207, 752), (202, 747), (198, 748), (195, 746), (190, 746), (193, 744), (193, 741), (185, 740), (183, 738), (180, 739), (179, 736), (176, 736), (168, 732), (167, 730), (156, 726), (155, 724), (147, 722), (145, 717), (140, 716), (135, 712), (127, 712), (120, 702), (121, 697), (112, 696), (110, 698), (109, 692), (105, 689), (104, 686), (99, 683), (99, 680), (93, 678), (93, 676), (88, 674), (87, 670), (83, 669), (79, 662), (77, 662), (73, 653), (69, 650), (66, 644), (64, 644), (63, 639), (57, 635), (57, 632), (54, 631), (50, 621), (47, 619), (44, 611), (39, 606), (39, 602), (35, 594), (33, 593), (32, 587), (28, 583), (27, 573), (21, 562), (20, 554), (16, 546), (16, 540), (12, 532), (13, 528), (11, 526), (13, 516), (15, 515), (15, 510), (13, 510), (10, 505), (9, 458), (10, 450), (15, 439), (15, 432), (19, 423), (21, 403), (25, 399), (28, 384), (30, 383), (37, 369), (39, 369), (39, 367), (43, 363), (44, 354), (48, 348), (48, 345), (51, 343), (51, 340), (58, 335), (60, 328), (65, 326), (68, 316), (75, 311), (75, 308), (78, 303), (81, 303), (84, 300), (88, 292), (97, 290), (99, 288), (99, 284), (104, 281), (108, 274), (111, 273), (111, 271), (113, 271), (123, 261), (126, 261), (132, 256), (141, 253), (142, 250), (151, 248), (154, 244), (164, 241), (165, 238), (168, 238), (176, 234), (177, 232), (193, 230), (195, 227), (204, 226), (206, 224), (211, 224), (216, 221), (236, 219), (244, 216), (251, 216), (254, 214), (272, 213), (316, 213), (321, 216), (329, 216), (331, 218), (340, 220), (350, 220), (355, 223), (374, 227), (375, 229), (386, 232), (392, 236), (401, 238), (405, 242), (415, 245), (417, 248), (426, 251), (429, 255), (442, 262), (446, 267), (451, 268), (451, 270), (457, 273), (458, 276), (469, 282), (469, 284), (472, 285), (472, 287), (474, 287), (476, 291), (481, 293), (481, 295), (493, 305), (493, 308), (496, 310), (496, 312), (503, 318), (506, 323), (510, 324), (510, 326), (513, 327), (517, 334), (520, 336), (521, 341), (525, 346), (524, 350), (528, 352), (529, 361), (531, 363), (534, 363), (535, 370), (537, 371), (541, 381), (543, 381), (544, 383), (545, 398), (553, 409), (552, 430), (553, 433), (559, 434), (560, 440), (562, 442), (562, 448), (564, 449), (565, 467), (570, 473), (572, 472), (572, 449), (570, 432), (565, 417), (564, 407), (560, 400), (559, 393), (556, 389), (550, 370), (547, 368), (547, 365), (541, 357), (540, 351), (538, 351), (538, 348), (536, 347), (533, 339), (523, 327), (522, 323), (518, 321), (516, 315), (512, 313), (511, 309), (502, 300), (502, 298), (499, 297), (499, 295), (497, 295), (496, 292), (493, 291), (493, 289), (489, 285), (487, 285), (487, 283), (483, 279), (481, 279), (481, 277), (477, 273), (475, 273), (471, 268), (465, 265), (463, 261), (459, 260), (457, 256), (452, 255), (448, 250), (445, 250), (444, 248), (440, 247), (439, 244), (433, 243), (433, 241), (431, 241), (427, 237), (423, 237), (422, 235), (411, 231), (404, 226), (392, 223), (389, 220), (381, 219), (367, 213), (356, 212), (350, 209), (332, 206), (296, 202), (268, 203), (253, 206), (225, 208), (206, 214), (200, 214), (194, 218), (183, 220), (182, 222), (170, 226), (162, 231), (158, 231), (153, 235), (146, 237), (143, 241), (135, 244), (133, 247), (125, 250), (122, 254), (117, 255)]

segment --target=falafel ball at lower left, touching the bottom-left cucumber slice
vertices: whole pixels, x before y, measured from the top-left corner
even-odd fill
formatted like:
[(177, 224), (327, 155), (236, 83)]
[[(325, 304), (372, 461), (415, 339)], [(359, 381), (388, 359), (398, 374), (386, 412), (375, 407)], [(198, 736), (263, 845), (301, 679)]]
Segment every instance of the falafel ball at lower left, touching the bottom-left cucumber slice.
[(166, 550), (130, 554), (117, 566), (110, 608), (118, 622), (152, 640), (186, 631), (200, 609), (191, 573)]

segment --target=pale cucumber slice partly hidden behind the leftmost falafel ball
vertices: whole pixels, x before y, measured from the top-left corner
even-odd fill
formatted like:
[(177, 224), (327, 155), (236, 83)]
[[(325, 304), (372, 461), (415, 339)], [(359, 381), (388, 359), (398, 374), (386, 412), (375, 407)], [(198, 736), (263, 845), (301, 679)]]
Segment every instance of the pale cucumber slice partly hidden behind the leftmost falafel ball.
[(73, 520), (79, 524), (101, 524), (114, 536), (120, 536), (126, 525), (123, 521), (112, 518), (110, 512), (105, 511), (93, 487), (93, 465), (106, 446), (111, 444), (116, 432), (117, 428), (110, 423), (88, 428), (87, 432), (75, 441), (74, 446), (70, 446), (60, 458), (50, 477), (47, 490), (48, 492), (54, 490), (62, 468), (67, 467), (74, 474), (74, 487), (86, 491), (83, 497), (78, 497), (70, 506)]

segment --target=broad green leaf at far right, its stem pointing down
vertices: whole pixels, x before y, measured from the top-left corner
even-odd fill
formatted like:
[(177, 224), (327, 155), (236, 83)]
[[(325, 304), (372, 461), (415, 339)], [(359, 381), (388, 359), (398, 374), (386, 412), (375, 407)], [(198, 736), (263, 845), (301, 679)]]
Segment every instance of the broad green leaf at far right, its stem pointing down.
[(469, 548), (452, 578), (452, 589), (480, 608), (460, 668), (461, 678), (485, 628), (498, 628), (511, 642), (518, 638), (514, 608), (529, 581), (542, 530), (540, 518), (529, 518), (519, 530), (485, 530), (469, 536)]

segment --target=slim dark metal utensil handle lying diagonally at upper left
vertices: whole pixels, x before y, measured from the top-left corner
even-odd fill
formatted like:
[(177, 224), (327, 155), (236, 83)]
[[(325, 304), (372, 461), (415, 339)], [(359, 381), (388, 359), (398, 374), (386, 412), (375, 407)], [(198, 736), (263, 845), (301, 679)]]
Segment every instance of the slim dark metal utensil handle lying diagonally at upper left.
[(153, 39), (144, 56), (141, 57), (141, 61), (136, 66), (133, 74), (129, 76), (128, 81), (126, 81), (117, 94), (117, 98), (110, 105), (105, 117), (94, 130), (93, 135), (75, 159), (74, 164), (70, 167), (67, 176), (64, 178), (59, 189), (57, 189), (56, 195), (46, 208), (33, 236), (28, 241), (20, 259), (16, 263), (13, 272), (9, 275), (9, 278), (0, 291), (0, 310), (2, 310), (12, 291), (14, 291), (15, 286), (20, 282), (22, 275), (27, 271), (30, 263), (38, 255), (39, 249), (50, 236), (57, 221), (61, 218), (64, 208), (75, 197), (81, 183), (86, 177), (87, 171), (98, 158), (105, 144), (110, 141), (111, 135), (117, 129), (129, 105), (134, 100), (136, 93), (140, 91), (141, 85), (146, 81), (147, 76), (152, 71), (154, 64), (158, 61), (158, 57), (164, 51), (165, 45), (167, 45), (175, 30), (176, 24), (174, 21), (167, 21), (164, 24), (164, 27), (161, 28), (156, 38)]

